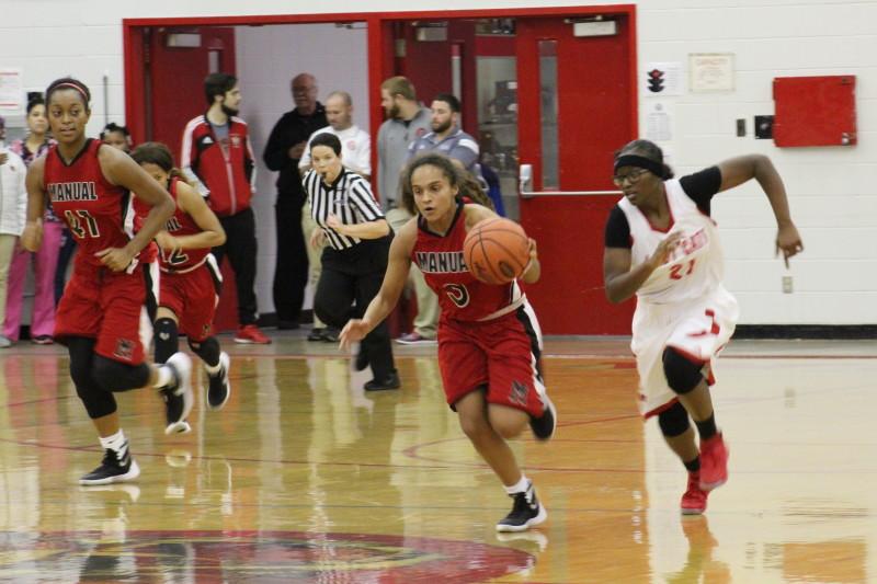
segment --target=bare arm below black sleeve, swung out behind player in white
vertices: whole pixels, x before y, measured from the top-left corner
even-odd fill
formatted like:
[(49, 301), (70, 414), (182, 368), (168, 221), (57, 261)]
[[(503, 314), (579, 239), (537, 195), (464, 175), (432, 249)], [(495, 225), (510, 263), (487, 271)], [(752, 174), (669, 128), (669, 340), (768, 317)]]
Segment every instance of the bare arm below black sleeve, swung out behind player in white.
[(798, 229), (791, 222), (786, 186), (771, 159), (764, 154), (748, 154), (719, 162), (718, 167), (721, 172), (719, 191), (733, 188), (750, 179), (759, 182), (762, 191), (767, 195), (767, 201), (771, 203), (776, 218), (776, 251), (777, 253), (783, 252), (783, 260), (788, 267), (788, 259), (804, 251), (804, 243), (798, 234)]

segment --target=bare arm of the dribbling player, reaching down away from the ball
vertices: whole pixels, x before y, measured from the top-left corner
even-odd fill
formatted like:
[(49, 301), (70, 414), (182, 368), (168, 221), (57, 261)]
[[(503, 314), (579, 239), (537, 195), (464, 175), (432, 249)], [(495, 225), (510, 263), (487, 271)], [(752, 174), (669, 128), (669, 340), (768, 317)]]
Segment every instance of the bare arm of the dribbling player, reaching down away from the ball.
[(405, 283), (408, 280), (408, 271), (411, 267), (411, 250), (417, 241), (417, 218), (411, 219), (396, 234), (390, 244), (387, 272), (377, 296), (368, 304), (362, 319), (352, 319), (339, 335), (341, 348), (350, 347), (351, 343), (361, 341), (372, 329), (377, 327), (399, 301)]

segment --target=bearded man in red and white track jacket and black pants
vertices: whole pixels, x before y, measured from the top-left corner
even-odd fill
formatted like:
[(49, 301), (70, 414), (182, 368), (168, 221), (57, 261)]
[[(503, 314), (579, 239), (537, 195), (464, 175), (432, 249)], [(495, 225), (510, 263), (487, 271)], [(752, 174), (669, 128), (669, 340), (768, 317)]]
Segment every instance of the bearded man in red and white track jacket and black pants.
[(237, 117), (241, 102), (235, 76), (210, 73), (204, 80), (207, 112), (183, 130), (183, 172), (203, 196), (226, 231), (226, 242), (214, 248), (221, 265), (228, 253), (238, 291), (236, 343), (267, 344), (257, 325), (255, 217), (250, 199), (255, 192), (255, 164), (247, 123)]

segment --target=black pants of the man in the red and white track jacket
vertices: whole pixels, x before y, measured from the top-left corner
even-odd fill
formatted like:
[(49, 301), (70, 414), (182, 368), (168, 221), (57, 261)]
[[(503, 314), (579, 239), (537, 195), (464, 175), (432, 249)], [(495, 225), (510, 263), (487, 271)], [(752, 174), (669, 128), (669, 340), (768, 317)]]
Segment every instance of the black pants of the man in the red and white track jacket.
[(213, 249), (216, 265), (228, 262), (235, 271), (235, 287), (238, 291), (238, 322), (241, 327), (255, 324), (255, 215), (246, 208), (228, 217), (219, 217), (226, 231), (226, 242)]

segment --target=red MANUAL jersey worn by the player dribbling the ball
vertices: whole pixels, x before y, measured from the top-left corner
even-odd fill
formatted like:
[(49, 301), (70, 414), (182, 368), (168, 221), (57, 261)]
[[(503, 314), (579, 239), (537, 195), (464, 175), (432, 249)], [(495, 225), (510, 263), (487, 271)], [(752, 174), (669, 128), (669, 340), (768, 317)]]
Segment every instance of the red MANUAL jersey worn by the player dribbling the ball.
[(494, 318), (523, 300), (517, 282), (501, 286), (485, 284), (466, 267), (463, 242), (466, 240), (465, 206), (460, 204), (445, 236), (429, 230), (418, 217), (418, 240), (411, 252), (426, 280), (438, 295), (442, 318), (477, 321)]

